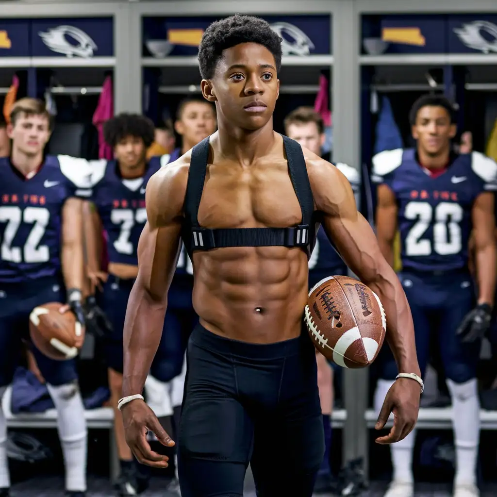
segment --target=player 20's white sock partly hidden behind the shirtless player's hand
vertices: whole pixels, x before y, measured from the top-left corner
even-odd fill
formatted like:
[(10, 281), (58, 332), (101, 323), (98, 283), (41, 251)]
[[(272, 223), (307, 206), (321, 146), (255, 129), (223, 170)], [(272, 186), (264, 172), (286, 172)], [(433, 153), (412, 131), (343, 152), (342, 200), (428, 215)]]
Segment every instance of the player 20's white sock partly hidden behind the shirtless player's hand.
[[(380, 414), (383, 401), (393, 385), (391, 380), (378, 380), (374, 395), (374, 409), (376, 415)], [(392, 466), (394, 469), (393, 480), (395, 482), (413, 483), (413, 451), (415, 442), (415, 430), (401, 440), (390, 446)]]

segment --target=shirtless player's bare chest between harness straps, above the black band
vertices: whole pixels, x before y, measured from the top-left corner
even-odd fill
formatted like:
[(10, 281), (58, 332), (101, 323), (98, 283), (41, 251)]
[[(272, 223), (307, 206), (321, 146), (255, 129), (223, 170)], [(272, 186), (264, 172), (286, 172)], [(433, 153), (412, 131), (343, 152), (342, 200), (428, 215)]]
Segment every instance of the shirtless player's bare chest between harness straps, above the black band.
[(249, 167), (208, 166), (198, 211), (200, 226), (284, 228), (301, 219), (286, 161)]

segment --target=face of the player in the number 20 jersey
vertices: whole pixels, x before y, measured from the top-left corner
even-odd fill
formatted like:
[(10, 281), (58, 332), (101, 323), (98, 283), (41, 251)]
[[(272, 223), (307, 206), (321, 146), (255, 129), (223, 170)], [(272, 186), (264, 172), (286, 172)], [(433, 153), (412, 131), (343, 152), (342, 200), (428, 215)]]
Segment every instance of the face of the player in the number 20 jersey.
[(450, 140), (456, 134), (456, 125), (451, 124), (446, 109), (426, 105), (418, 110), (412, 132), (418, 147), (436, 157), (448, 149)]

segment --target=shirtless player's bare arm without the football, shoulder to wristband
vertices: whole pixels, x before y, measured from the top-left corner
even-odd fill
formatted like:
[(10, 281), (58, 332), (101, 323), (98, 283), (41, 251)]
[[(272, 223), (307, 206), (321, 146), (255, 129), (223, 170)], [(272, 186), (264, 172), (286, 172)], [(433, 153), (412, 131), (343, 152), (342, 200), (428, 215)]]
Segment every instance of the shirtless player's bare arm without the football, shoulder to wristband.
[(124, 323), (123, 397), (141, 394), (161, 340), (171, 283), (180, 250), (187, 167), (170, 166), (147, 184), (147, 223), (138, 244), (138, 277)]

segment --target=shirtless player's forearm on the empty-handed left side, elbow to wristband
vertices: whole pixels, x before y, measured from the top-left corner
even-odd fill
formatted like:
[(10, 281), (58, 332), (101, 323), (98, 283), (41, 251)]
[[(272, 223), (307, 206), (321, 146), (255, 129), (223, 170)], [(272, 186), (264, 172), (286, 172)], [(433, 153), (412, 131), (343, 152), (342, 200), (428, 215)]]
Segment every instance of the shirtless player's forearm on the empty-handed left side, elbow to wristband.
[(141, 394), (161, 341), (167, 300), (154, 300), (138, 278), (133, 285), (124, 321), (122, 395)]

